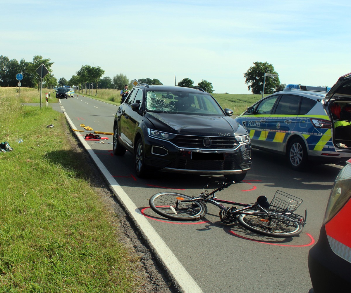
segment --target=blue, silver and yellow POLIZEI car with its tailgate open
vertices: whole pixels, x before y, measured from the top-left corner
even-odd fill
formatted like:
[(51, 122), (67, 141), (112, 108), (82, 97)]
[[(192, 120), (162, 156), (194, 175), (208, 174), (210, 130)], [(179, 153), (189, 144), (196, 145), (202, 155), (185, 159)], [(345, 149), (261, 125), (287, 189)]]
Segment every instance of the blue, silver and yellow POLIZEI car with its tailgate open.
[(286, 155), (294, 170), (309, 160), (345, 165), (351, 158), (351, 73), (330, 89), (289, 84), (235, 120), (252, 147)]

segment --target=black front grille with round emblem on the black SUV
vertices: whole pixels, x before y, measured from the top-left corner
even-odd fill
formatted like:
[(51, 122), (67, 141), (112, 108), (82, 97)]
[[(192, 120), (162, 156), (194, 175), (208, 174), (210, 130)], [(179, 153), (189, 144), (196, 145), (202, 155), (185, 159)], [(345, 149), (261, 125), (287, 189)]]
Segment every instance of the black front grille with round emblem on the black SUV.
[(179, 148), (236, 149), (239, 146), (234, 137), (177, 135), (172, 142)]

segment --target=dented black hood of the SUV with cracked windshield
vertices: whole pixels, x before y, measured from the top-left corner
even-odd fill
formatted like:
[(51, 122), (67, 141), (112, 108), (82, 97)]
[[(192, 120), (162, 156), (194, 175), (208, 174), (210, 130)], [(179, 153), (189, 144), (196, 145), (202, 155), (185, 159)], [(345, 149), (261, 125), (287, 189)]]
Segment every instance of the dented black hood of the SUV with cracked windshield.
[[(158, 130), (183, 135), (235, 136), (237, 122), (228, 116), (200, 116), (148, 112), (145, 117)], [(186, 126), (185, 126), (186, 125)]]

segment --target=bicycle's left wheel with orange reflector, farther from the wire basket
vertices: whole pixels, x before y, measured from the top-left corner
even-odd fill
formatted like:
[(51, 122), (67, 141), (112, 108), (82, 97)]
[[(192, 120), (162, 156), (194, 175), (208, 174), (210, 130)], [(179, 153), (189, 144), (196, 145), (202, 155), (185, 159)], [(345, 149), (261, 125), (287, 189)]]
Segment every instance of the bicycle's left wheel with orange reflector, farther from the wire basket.
[(183, 202), (192, 197), (171, 192), (160, 192), (150, 197), (150, 208), (168, 219), (178, 221), (192, 221), (202, 218), (206, 214), (206, 205), (200, 201)]

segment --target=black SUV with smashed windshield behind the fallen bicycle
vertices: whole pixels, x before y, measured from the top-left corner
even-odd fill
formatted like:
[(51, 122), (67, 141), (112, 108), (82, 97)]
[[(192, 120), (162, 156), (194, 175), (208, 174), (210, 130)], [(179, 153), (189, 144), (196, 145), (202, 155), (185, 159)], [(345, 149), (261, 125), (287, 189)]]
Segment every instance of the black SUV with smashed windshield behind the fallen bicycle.
[(252, 148), (232, 113), (200, 88), (140, 84), (118, 107), (113, 153), (131, 152), (139, 177), (153, 169), (241, 181)]

